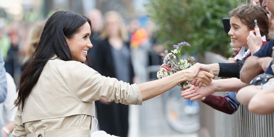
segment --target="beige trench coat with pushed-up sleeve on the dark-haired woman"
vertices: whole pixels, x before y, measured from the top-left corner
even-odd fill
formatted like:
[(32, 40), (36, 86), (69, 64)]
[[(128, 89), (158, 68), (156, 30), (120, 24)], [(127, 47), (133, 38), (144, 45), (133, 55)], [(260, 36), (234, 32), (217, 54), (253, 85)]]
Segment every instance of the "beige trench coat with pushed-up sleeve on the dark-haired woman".
[(94, 101), (101, 97), (122, 104), (142, 105), (136, 84), (100, 75), (77, 61), (49, 60), (25, 101), (18, 108), (13, 137), (89, 137)]

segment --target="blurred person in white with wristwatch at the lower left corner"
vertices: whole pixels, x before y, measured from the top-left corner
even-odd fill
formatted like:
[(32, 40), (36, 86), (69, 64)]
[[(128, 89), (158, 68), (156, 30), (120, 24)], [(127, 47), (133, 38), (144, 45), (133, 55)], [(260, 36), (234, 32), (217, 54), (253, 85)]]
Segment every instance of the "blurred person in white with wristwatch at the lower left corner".
[[(7, 97), (0, 103), (0, 129), (3, 137), (11, 136), (13, 131), (13, 120), (17, 108), (14, 108), (13, 101), (16, 97), (16, 85), (14, 79), (6, 72), (7, 77)], [(1, 135), (0, 135), (1, 136)]]

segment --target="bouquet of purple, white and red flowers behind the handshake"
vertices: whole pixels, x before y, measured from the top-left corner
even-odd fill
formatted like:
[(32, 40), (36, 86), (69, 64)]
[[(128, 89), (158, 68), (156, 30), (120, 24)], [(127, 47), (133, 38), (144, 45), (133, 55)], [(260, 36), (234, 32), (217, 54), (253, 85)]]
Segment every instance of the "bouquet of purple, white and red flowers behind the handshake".
[[(180, 70), (188, 69), (195, 64), (194, 57), (188, 56), (188, 59), (181, 59), (181, 51), (184, 46), (190, 47), (190, 44), (187, 42), (181, 42), (178, 43), (178, 45), (173, 45), (174, 50), (171, 51), (172, 53), (168, 53), (168, 50), (166, 50), (164, 53), (160, 53), (160, 56), (163, 57), (164, 63), (161, 65), (157, 72), (158, 79), (167, 77)], [(187, 85), (187, 83), (182, 82), (179, 84), (179, 86), (184, 85)]]

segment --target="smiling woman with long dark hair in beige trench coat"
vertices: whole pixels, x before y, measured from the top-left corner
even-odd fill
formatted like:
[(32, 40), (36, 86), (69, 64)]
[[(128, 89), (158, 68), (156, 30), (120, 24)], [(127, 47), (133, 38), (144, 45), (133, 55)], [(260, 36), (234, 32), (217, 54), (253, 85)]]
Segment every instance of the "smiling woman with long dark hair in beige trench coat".
[[(58, 11), (48, 19), (20, 79), (14, 137), (88, 137), (95, 100), (141, 105), (194, 79), (198, 65), (138, 85), (102, 76), (83, 63), (92, 47), (90, 33), (90, 20), (78, 13)], [(201, 71), (195, 78), (207, 85), (214, 75)]]

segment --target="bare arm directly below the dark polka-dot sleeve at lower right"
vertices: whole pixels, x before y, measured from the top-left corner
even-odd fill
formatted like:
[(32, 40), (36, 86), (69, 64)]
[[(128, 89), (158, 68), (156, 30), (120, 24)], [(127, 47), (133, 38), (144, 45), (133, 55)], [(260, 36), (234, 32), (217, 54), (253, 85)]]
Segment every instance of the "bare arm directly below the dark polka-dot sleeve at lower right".
[(251, 98), (258, 92), (260, 92), (261, 86), (247, 86), (237, 92), (236, 99), (243, 105), (248, 105)]

